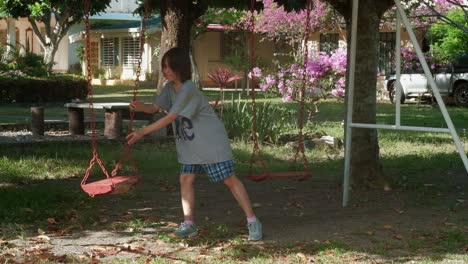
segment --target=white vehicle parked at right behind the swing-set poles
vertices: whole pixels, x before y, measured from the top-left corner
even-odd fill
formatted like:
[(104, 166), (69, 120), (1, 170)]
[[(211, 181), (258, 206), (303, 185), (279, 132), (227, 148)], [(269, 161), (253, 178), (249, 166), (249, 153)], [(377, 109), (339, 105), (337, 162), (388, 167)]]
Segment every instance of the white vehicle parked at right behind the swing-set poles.
[[(468, 63), (465, 60), (468, 60), (468, 57), (460, 57), (456, 63), (436, 68), (432, 73), (442, 97), (453, 97), (454, 103), (458, 106), (468, 106)], [(386, 78), (386, 88), (392, 103), (395, 102), (395, 81), (395, 74)], [(401, 103), (412, 97), (432, 96), (432, 89), (422, 70), (412, 73), (403, 72), (400, 83)]]

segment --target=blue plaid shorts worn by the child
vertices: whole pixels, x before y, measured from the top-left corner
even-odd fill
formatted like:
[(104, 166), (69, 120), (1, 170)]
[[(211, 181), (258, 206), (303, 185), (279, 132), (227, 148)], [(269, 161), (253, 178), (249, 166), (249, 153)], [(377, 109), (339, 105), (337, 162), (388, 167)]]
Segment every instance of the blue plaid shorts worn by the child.
[(202, 174), (206, 172), (211, 182), (220, 182), (234, 175), (234, 162), (232, 160), (210, 164), (182, 164), (180, 173)]

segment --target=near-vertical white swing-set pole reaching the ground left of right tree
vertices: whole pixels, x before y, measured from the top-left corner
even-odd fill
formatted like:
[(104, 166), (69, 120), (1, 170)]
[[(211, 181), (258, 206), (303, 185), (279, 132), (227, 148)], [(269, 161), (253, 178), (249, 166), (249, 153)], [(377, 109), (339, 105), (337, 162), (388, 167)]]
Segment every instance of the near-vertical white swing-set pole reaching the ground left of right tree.
[(349, 170), (351, 161), (351, 123), (353, 122), (353, 103), (354, 103), (354, 74), (356, 73), (356, 37), (357, 37), (357, 17), (359, 0), (353, 0), (352, 25), (351, 25), (351, 48), (349, 54), (349, 73), (348, 73), (348, 106), (346, 112), (346, 137), (345, 137), (345, 165), (343, 178), (343, 206), (348, 205), (349, 200)]

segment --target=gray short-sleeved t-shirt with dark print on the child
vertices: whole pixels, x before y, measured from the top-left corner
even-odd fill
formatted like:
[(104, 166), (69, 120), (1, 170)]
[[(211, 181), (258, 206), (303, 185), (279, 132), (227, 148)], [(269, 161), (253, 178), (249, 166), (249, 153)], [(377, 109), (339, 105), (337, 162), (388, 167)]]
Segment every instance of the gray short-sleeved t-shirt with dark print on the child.
[(232, 159), (224, 124), (192, 81), (185, 81), (178, 92), (167, 83), (154, 103), (178, 115), (172, 128), (180, 163), (209, 164)]

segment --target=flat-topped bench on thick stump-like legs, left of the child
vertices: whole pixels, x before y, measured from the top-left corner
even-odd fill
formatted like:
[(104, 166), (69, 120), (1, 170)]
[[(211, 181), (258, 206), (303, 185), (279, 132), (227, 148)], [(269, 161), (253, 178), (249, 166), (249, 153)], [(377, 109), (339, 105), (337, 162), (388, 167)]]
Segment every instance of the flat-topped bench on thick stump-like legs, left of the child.
[[(84, 109), (89, 103), (66, 103), (68, 109), (68, 131), (71, 135), (84, 135)], [(121, 137), (123, 120), (130, 119), (129, 103), (93, 103), (93, 109), (104, 109), (104, 136), (115, 139)], [(134, 120), (152, 120), (153, 115), (135, 112)]]

